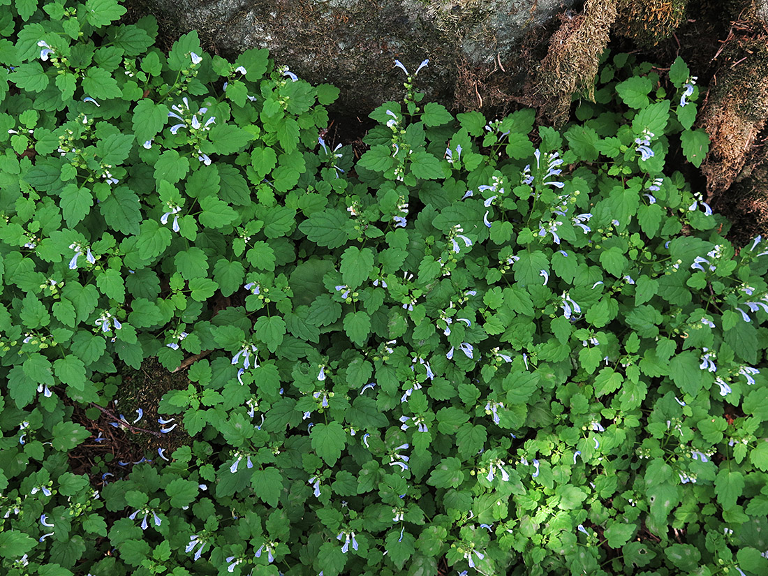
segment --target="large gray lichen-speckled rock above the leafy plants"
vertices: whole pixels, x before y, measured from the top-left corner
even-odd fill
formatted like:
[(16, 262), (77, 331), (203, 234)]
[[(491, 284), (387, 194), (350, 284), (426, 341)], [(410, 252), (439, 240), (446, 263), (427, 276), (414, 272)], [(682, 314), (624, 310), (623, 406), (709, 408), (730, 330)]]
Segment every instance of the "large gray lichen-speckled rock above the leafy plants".
[[(518, 58), (521, 38), (577, 0), (139, 0), (178, 34), (197, 30), (220, 55), (268, 48), (277, 65), (341, 89), (349, 114), (401, 100), (405, 74), (429, 58), (418, 88), (451, 105), (472, 74)], [(500, 66), (497, 68), (497, 62)]]

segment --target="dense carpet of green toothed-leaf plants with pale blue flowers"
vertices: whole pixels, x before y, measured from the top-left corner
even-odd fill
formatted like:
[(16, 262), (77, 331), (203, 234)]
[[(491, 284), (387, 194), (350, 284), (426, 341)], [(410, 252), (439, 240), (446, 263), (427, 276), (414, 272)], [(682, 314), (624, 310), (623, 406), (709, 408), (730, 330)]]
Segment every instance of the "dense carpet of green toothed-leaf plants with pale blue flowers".
[[(562, 132), (406, 71), (353, 166), (335, 88), (124, 12), (0, 18), (4, 573), (764, 573), (768, 246), (670, 168), (682, 61)], [(74, 403), (204, 351), (157, 407), (192, 445), (71, 472)]]

